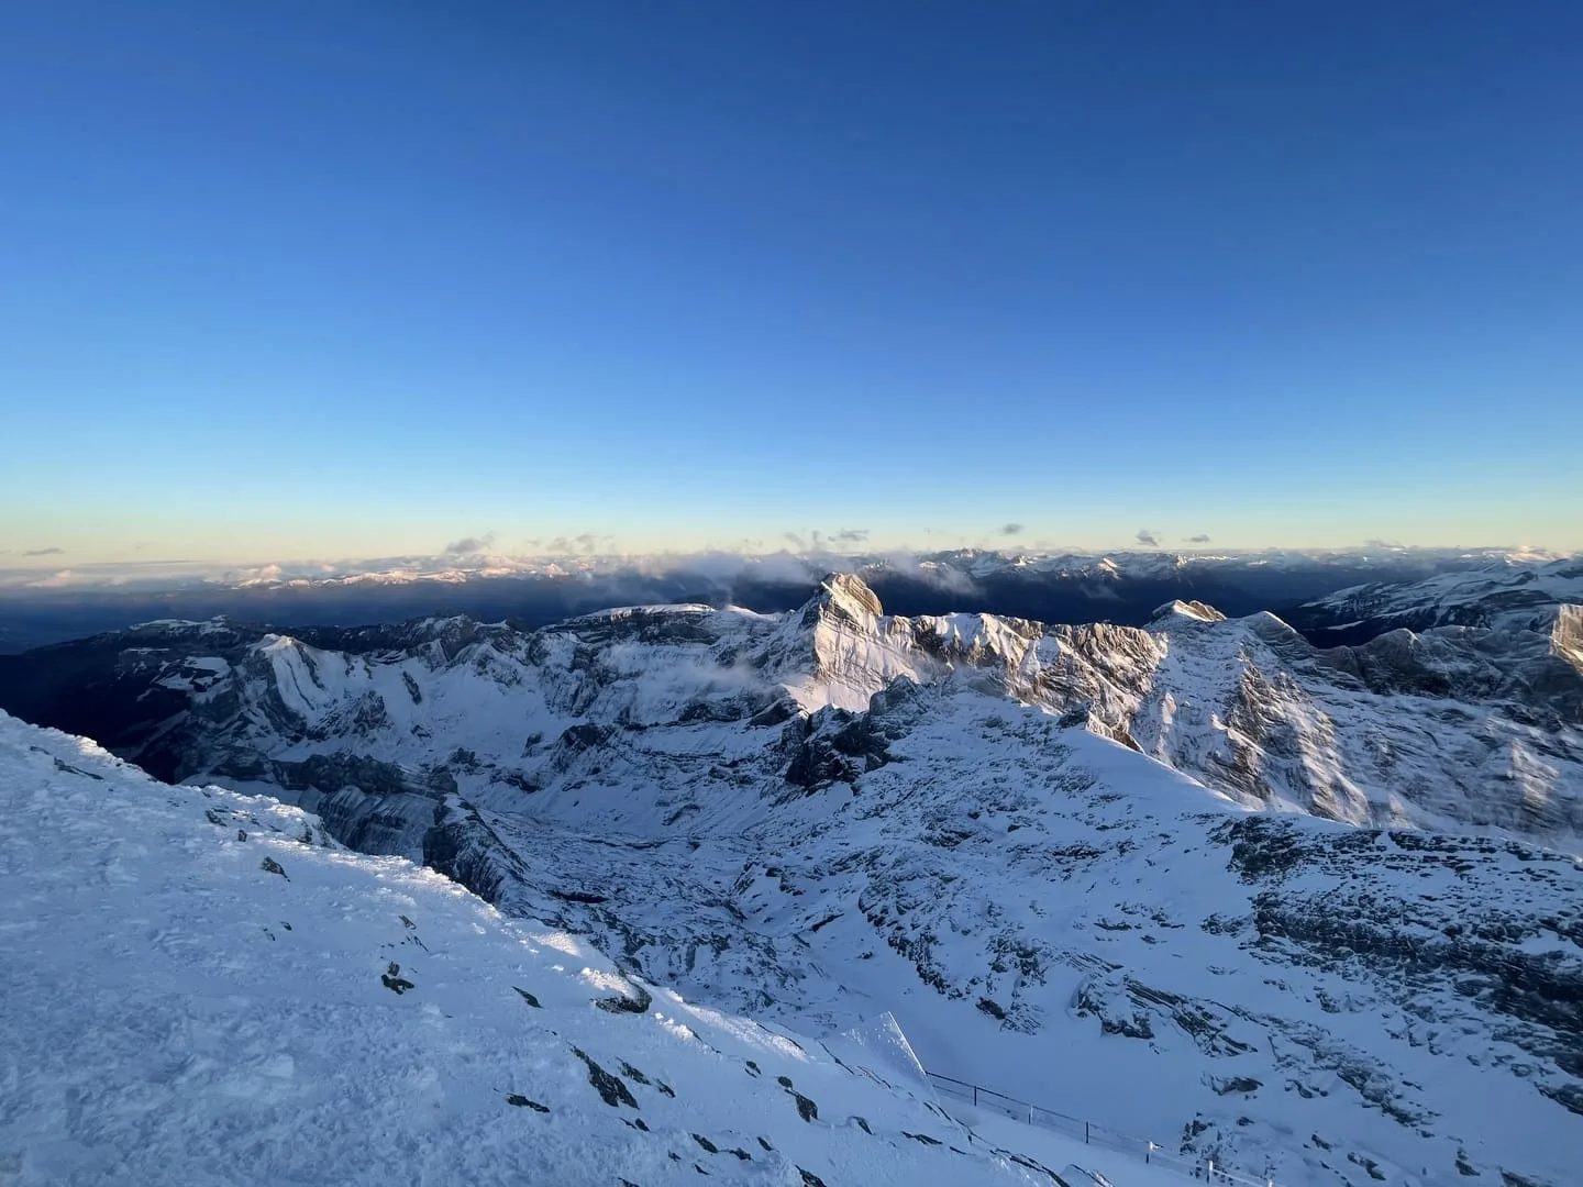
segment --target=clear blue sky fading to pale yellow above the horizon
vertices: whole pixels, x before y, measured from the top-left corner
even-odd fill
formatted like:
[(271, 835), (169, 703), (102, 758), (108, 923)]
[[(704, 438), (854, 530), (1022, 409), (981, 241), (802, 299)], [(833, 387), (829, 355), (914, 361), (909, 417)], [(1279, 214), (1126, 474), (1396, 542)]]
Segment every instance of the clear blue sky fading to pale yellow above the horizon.
[(17, 6), (0, 565), (1583, 548), (1578, 44), (1575, 3)]

